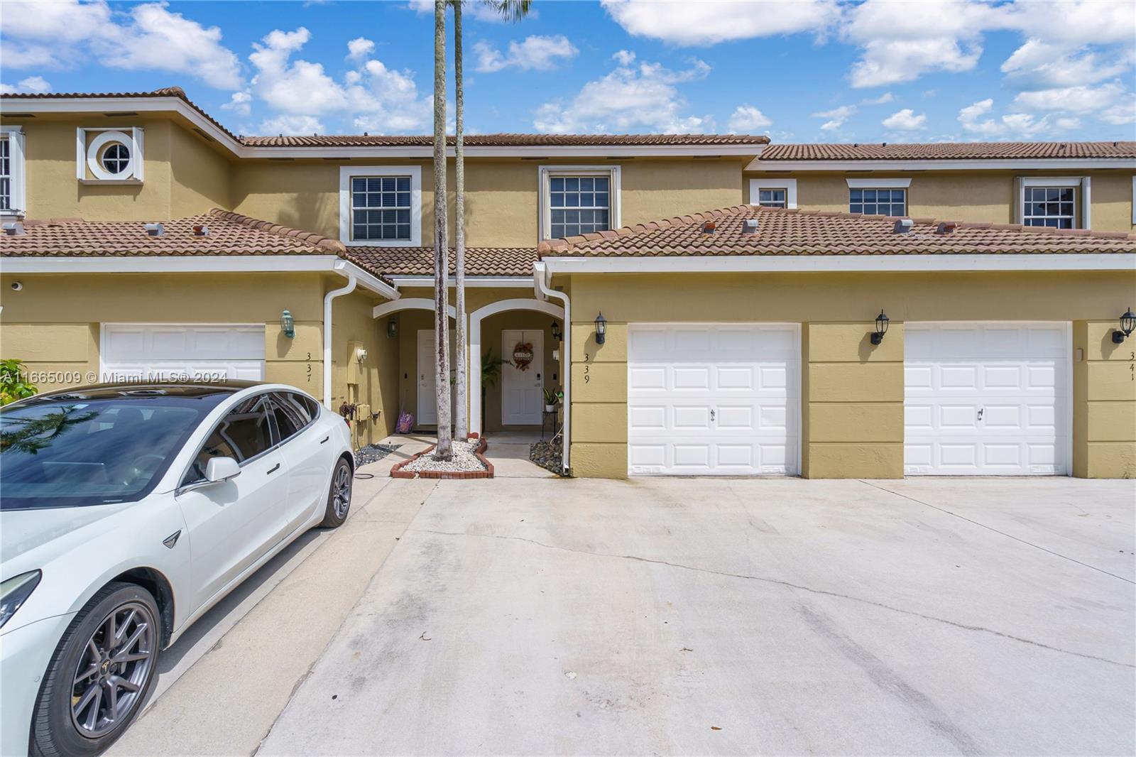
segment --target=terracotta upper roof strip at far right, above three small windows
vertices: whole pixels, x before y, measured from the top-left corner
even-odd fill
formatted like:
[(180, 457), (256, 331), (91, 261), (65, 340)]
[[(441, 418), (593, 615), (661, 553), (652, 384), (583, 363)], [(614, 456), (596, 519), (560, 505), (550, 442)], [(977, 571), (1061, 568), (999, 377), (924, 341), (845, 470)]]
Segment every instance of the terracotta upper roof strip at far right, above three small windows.
[(771, 144), (774, 160), (975, 160), (1027, 158), (1134, 158), (1136, 142), (930, 142), (925, 144)]

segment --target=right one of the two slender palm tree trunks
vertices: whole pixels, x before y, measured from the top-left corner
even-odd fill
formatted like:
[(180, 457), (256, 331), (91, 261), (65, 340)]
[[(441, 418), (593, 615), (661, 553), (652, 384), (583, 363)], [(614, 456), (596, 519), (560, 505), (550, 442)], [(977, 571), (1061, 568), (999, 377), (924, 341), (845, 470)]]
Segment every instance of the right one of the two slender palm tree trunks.
[[(454, 422), (456, 435), (459, 440), (466, 439), (469, 433), (468, 414), (468, 391), (466, 376), (466, 358), (468, 350), (466, 347), (466, 157), (465, 148), (461, 144), (465, 118), (465, 84), (461, 73), (461, 0), (453, 3), (453, 85), (456, 100), (457, 130), (454, 132), (453, 149), (453, 221), (454, 221), (454, 293), (458, 330), (454, 340), (454, 369), (457, 372), (456, 400), (458, 417)], [(484, 419), (482, 421), (484, 424)]]

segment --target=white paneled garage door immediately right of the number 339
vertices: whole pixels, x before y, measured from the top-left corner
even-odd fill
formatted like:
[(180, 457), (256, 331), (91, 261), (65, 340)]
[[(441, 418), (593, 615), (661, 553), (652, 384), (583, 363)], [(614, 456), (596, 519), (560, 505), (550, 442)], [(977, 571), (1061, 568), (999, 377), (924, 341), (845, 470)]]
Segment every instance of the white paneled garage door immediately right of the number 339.
[(629, 473), (797, 472), (795, 325), (632, 325), (627, 349)]

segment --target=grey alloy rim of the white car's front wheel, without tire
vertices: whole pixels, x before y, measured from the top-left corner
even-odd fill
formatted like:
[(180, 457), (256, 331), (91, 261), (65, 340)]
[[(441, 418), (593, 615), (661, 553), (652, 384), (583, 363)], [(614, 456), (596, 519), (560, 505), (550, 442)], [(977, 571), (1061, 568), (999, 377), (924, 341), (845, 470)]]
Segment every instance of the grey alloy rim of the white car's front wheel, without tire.
[(142, 602), (126, 602), (99, 624), (72, 681), (72, 722), (82, 735), (98, 739), (126, 722), (152, 673), (157, 641)]

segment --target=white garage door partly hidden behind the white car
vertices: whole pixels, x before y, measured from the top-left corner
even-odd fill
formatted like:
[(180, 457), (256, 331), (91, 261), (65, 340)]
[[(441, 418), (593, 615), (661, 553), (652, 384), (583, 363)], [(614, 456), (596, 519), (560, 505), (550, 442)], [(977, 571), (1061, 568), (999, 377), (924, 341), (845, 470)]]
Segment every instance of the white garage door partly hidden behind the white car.
[(265, 377), (264, 324), (102, 324), (102, 381)]

